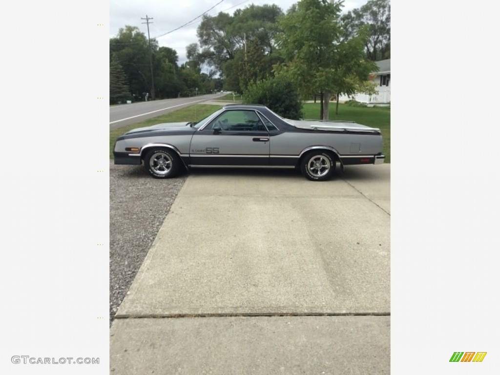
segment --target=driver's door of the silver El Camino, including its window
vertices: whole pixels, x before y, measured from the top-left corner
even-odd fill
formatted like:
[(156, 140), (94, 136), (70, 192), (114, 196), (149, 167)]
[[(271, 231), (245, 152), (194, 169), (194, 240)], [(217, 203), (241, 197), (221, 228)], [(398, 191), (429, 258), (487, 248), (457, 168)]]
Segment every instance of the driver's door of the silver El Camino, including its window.
[(269, 165), (269, 133), (251, 109), (227, 109), (197, 130), (189, 148), (193, 166)]

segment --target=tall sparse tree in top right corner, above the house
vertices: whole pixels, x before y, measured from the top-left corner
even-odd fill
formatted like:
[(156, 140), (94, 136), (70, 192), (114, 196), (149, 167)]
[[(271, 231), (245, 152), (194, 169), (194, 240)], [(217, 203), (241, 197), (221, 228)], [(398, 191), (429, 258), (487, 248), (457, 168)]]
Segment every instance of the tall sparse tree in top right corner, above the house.
[(373, 61), (390, 58), (390, 2), (369, 0), (363, 6), (342, 15), (348, 34), (355, 34), (367, 26), (369, 37), (365, 42), (366, 56)]

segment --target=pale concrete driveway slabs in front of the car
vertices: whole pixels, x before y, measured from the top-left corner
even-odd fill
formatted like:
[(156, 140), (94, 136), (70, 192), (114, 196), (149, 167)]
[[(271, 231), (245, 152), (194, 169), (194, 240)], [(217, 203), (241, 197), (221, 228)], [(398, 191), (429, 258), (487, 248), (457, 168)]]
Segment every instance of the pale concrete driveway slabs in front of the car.
[(390, 164), (193, 172), (117, 311), (111, 370), (389, 373), (389, 181)]

